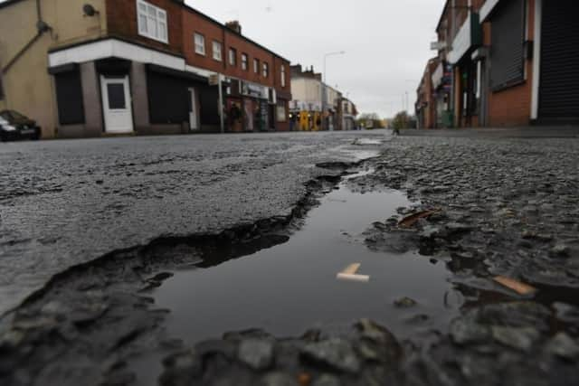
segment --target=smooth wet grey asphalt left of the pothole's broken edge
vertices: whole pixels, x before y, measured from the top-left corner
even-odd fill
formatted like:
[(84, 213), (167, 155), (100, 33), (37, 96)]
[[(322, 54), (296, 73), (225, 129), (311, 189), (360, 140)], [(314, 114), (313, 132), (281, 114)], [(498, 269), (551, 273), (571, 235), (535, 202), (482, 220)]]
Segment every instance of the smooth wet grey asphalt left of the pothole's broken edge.
[[(287, 215), (328, 161), (386, 131), (0, 145), (0, 315), (66, 268), (168, 236)], [(376, 146), (375, 146), (376, 147)], [(377, 148), (377, 147), (376, 147)]]

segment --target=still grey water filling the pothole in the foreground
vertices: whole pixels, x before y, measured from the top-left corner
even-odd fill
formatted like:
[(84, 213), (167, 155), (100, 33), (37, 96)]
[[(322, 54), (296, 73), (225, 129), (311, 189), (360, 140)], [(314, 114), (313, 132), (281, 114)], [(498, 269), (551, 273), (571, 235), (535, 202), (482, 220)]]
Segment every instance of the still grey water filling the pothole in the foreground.
[[(177, 271), (154, 293), (157, 306), (171, 310), (169, 334), (195, 344), (248, 328), (298, 336), (362, 317), (399, 337), (414, 334), (417, 322), (420, 329), (447, 325), (456, 314), (445, 307), (451, 289), (445, 265), (415, 253), (372, 252), (359, 236), (410, 204), (400, 192), (353, 193), (342, 184), (287, 243), (217, 267)], [(352, 263), (361, 264), (357, 273), (370, 276), (369, 282), (337, 280)], [(396, 308), (401, 297), (419, 305)]]

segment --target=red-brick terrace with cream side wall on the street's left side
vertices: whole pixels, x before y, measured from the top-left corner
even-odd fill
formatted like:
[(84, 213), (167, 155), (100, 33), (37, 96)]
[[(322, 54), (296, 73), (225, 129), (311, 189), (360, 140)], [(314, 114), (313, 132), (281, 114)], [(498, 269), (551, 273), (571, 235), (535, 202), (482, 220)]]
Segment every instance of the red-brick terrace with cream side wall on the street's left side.
[(183, 0), (7, 0), (0, 68), (43, 137), (289, 129), (289, 61)]

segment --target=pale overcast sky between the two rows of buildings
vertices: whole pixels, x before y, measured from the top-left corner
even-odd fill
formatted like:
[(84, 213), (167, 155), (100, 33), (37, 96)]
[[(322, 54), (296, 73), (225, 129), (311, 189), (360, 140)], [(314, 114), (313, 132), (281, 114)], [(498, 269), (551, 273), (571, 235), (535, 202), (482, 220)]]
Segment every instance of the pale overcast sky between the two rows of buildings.
[(327, 83), (349, 92), (361, 112), (390, 117), (403, 94), (413, 104), (444, 0), (186, 0), (220, 22), (304, 66), (323, 67)]

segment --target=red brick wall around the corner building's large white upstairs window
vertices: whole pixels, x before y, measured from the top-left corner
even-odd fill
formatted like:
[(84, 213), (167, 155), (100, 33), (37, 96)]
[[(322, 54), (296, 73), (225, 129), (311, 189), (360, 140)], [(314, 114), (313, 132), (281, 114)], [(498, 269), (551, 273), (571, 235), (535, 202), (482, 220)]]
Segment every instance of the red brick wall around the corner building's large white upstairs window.
[(169, 43), (158, 42), (138, 34), (137, 0), (106, 0), (109, 35), (147, 44), (157, 50), (182, 54), (183, 28), (181, 5), (173, 0), (146, 0), (166, 11)]

